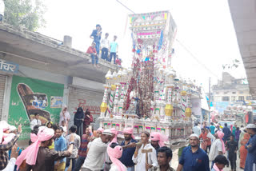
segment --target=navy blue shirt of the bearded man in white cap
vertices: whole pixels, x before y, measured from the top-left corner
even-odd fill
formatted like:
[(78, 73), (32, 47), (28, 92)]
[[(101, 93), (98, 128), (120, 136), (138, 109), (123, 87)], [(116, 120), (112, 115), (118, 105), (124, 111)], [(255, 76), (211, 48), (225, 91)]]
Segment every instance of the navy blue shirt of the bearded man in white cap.
[(191, 146), (184, 148), (179, 164), (183, 165), (183, 171), (210, 171), (209, 157), (201, 148), (195, 153), (192, 153)]

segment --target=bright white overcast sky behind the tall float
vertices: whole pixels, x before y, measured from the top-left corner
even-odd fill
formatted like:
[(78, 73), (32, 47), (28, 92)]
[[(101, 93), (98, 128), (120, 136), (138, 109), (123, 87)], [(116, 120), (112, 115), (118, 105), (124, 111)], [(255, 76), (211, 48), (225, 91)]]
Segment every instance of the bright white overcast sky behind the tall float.
[[(136, 14), (170, 10), (178, 32), (174, 42), (172, 67), (182, 78), (196, 80), (208, 92), (211, 84), (222, 79), (222, 64), (234, 59), (242, 62), (227, 0), (119, 0)], [(117, 0), (44, 0), (47, 7), (46, 27), (38, 30), (51, 38), (73, 38), (73, 48), (86, 51), (96, 24), (102, 35), (118, 36), (118, 56), (122, 66), (132, 62), (128, 14), (132, 14)], [(225, 70), (235, 78), (245, 78), (241, 65)]]

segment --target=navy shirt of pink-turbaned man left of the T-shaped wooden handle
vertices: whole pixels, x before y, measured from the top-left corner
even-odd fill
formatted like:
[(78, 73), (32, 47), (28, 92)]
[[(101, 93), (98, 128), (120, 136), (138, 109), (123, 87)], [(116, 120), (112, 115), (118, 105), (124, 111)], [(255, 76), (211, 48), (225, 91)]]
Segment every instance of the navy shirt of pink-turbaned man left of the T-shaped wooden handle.
[[(134, 139), (131, 139), (130, 142), (137, 142)], [(128, 145), (130, 144), (128, 143)], [(125, 141), (122, 141), (121, 146), (125, 145)], [(134, 152), (135, 152), (135, 147), (134, 148), (127, 148), (127, 149), (122, 149), (122, 157), (119, 159), (123, 165), (126, 165), (126, 167), (131, 167), (134, 166), (134, 161), (132, 160)]]

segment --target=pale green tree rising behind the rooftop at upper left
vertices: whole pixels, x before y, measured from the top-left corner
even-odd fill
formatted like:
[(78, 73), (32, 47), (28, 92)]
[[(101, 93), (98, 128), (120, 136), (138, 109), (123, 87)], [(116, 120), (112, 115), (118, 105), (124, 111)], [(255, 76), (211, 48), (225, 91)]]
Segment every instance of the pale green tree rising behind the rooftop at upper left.
[(46, 6), (41, 0), (5, 0), (5, 22), (35, 31), (45, 26)]

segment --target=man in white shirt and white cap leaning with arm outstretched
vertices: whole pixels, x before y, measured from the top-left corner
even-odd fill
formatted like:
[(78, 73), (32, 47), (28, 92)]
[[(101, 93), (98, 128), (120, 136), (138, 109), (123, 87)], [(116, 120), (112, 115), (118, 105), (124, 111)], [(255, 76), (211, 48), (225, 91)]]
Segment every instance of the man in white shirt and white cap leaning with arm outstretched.
[(110, 129), (105, 129), (101, 137), (90, 143), (90, 150), (87, 153), (86, 161), (82, 165), (82, 171), (99, 171), (102, 169), (107, 143), (110, 141), (111, 136)]

